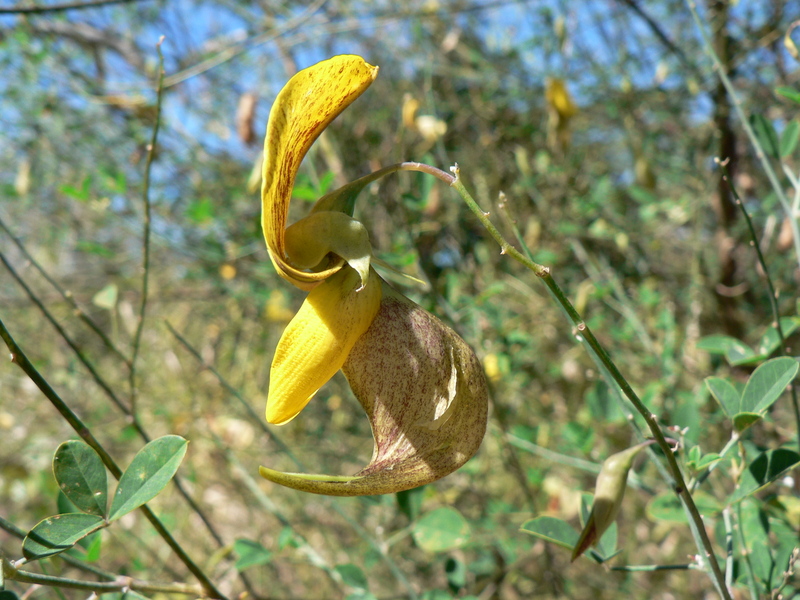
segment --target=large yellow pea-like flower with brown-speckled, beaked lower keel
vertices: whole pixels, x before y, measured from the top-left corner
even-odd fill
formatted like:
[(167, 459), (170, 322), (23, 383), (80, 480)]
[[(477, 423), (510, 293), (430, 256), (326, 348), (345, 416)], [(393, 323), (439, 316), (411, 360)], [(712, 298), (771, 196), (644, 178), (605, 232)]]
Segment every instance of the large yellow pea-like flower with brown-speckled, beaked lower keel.
[(371, 268), (356, 195), (387, 171), (321, 198), (287, 228), (303, 157), (327, 125), (375, 79), (358, 56), (300, 71), (278, 94), (264, 142), (262, 227), (278, 273), (309, 291), (281, 337), (270, 371), (266, 418), (287, 423), (342, 369), (372, 426), (372, 461), (350, 477), (280, 473), (266, 479), (333, 495), (410, 489), (472, 457), (486, 430), (483, 371), (444, 323), (392, 289)]

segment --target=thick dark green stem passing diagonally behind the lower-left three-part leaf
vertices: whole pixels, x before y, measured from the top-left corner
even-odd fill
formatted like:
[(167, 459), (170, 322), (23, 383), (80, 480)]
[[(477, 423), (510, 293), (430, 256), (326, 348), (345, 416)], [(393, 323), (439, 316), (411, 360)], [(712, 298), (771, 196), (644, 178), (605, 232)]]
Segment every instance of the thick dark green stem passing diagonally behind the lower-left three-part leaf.
[[(11, 361), (19, 366), (31, 379), (31, 381), (36, 384), (36, 387), (39, 388), (39, 390), (45, 395), (55, 409), (61, 414), (61, 416), (64, 417), (75, 433), (77, 433), (81, 439), (83, 439), (83, 441), (89, 444), (89, 446), (91, 446), (94, 451), (97, 452), (106, 468), (116, 479), (119, 479), (122, 475), (122, 469), (119, 468), (117, 463), (114, 462), (114, 459), (111, 458), (111, 455), (108, 454), (106, 449), (103, 448), (100, 442), (97, 441), (97, 438), (94, 437), (94, 434), (91, 432), (89, 427), (87, 427), (80, 420), (80, 418), (78, 418), (72, 409), (67, 406), (66, 402), (64, 402), (64, 400), (61, 399), (61, 397), (50, 386), (50, 384), (47, 383), (44, 377), (41, 376), (39, 371), (36, 370), (36, 367), (34, 367), (30, 360), (28, 360), (28, 357), (22, 351), (22, 348), (19, 347), (17, 342), (11, 336), (11, 333), (8, 331), (8, 329), (6, 329), (6, 326), (2, 320), (0, 320), (0, 338), (3, 339), (8, 347), (9, 352), (11, 352)], [(224, 599), (225, 596), (216, 588), (216, 586), (206, 576), (202, 569), (200, 569), (200, 567), (195, 564), (189, 555), (186, 554), (186, 551), (180, 546), (180, 544), (178, 544), (175, 538), (172, 537), (172, 534), (167, 530), (167, 528), (150, 509), (150, 507), (145, 504), (141, 507), (141, 510), (145, 517), (147, 517), (147, 520), (150, 521), (155, 530), (162, 537), (162, 539), (169, 545), (170, 548), (172, 548), (175, 554), (178, 555), (186, 568), (189, 569), (189, 571), (197, 578), (206, 591), (206, 595), (212, 598)]]

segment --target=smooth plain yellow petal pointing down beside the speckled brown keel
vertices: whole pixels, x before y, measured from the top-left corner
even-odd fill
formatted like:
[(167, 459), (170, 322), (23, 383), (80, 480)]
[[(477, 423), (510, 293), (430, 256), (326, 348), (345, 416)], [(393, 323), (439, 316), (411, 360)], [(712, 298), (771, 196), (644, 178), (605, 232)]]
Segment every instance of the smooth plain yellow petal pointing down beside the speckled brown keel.
[(344, 268), (308, 294), (275, 350), (268, 422), (282, 425), (296, 417), (369, 329), (381, 304), (380, 278), (372, 275), (361, 288), (358, 273)]

